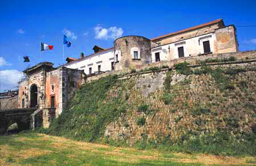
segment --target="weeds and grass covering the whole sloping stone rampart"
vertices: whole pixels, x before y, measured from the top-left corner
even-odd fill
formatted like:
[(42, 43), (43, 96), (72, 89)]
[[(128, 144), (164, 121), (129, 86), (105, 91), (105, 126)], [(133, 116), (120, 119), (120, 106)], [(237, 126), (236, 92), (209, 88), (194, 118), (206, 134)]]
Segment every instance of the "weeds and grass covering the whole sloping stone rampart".
[[(143, 75), (135, 76), (136, 79), (143, 79), (145, 85), (141, 88), (136, 85), (135, 78), (118, 80), (117, 76), (106, 76), (85, 83), (77, 91), (69, 109), (64, 110), (49, 129), (38, 131), (113, 146), (132, 145), (141, 150), (154, 148), (187, 154), (256, 156), (256, 125), (245, 124), (239, 114), (246, 113), (256, 118), (255, 92), (251, 92), (254, 83), (253, 79), (238, 79), (241, 75), (248, 78), (247, 72), (253, 73), (256, 70), (253, 67), (208, 66), (206, 63), (192, 68), (185, 62), (176, 64), (175, 69), (164, 71), (166, 76), (163, 87), (150, 93), (147, 98), (143, 97), (141, 91), (151, 88), (152, 83), (147, 86)], [(161, 74), (151, 73), (151, 78)], [(185, 78), (172, 84), (174, 75)], [(206, 89), (195, 87), (195, 82), (204, 84)], [(159, 124), (167, 123), (163, 121), (166, 117), (159, 116), (164, 116), (166, 112), (171, 115), (168, 122), (177, 126), (167, 130), (175, 130), (180, 135), (173, 138), (174, 135), (159, 131), (154, 138), (149, 137), (143, 127), (147, 127), (150, 124), (148, 121), (155, 117)], [(131, 120), (134, 120), (134, 124), (131, 124)], [(209, 125), (210, 122), (215, 128)], [(120, 139), (104, 137), (106, 126), (111, 123), (116, 123), (120, 129), (139, 129), (139, 133), (142, 130), (144, 133), (140, 140), (132, 144), (125, 133), (117, 133)], [(137, 126), (134, 128), (134, 125)], [(240, 130), (245, 125), (252, 132)]]

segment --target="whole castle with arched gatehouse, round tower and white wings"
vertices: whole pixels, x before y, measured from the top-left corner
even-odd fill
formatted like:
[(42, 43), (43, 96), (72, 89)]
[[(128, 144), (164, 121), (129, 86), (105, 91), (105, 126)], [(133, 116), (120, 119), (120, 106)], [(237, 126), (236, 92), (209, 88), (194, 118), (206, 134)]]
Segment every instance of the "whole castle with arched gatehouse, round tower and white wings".
[(147, 39), (123, 36), (109, 49), (94, 46), (94, 53), (79, 59), (68, 57), (57, 68), (42, 62), (24, 70), (19, 82), (19, 108), (41, 108), (57, 117), (68, 107), (74, 92), (89, 76), (112, 71), (139, 69), (144, 64), (172, 61), (182, 57), (238, 52), (236, 28), (222, 19), (164, 36)]

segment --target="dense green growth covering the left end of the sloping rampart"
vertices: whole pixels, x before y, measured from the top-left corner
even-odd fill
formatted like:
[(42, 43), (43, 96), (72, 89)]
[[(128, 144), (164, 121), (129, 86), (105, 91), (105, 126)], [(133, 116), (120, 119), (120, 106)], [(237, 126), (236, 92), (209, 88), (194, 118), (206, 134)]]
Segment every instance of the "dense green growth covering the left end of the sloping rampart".
[(49, 127), (48, 133), (85, 141), (97, 141), (105, 125), (116, 120), (129, 107), (122, 92), (106, 99), (106, 92), (118, 83), (117, 76), (106, 76), (82, 85), (66, 109)]

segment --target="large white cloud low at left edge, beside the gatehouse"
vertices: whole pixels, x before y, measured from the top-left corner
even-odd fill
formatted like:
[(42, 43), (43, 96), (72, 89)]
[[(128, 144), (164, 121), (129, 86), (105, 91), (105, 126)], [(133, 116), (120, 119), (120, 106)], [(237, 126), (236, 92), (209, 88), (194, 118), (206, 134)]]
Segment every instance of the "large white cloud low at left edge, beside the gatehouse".
[(18, 70), (0, 70), (1, 91), (13, 89), (18, 86), (23, 73)]

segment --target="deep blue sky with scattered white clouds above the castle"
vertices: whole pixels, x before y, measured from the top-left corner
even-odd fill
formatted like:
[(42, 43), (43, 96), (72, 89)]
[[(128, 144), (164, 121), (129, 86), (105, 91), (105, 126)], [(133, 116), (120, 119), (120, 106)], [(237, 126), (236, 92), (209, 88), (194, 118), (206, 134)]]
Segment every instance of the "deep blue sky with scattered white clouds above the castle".
[[(0, 91), (17, 85), (28, 65), (63, 63), (63, 32), (72, 42), (66, 57), (113, 46), (117, 36), (149, 39), (222, 18), (234, 24), (240, 50), (256, 49), (256, 1), (13, 1), (0, 5)], [(254, 26), (254, 27), (242, 27)], [(40, 41), (53, 45), (41, 52)], [(23, 56), (31, 62), (23, 63)]]

